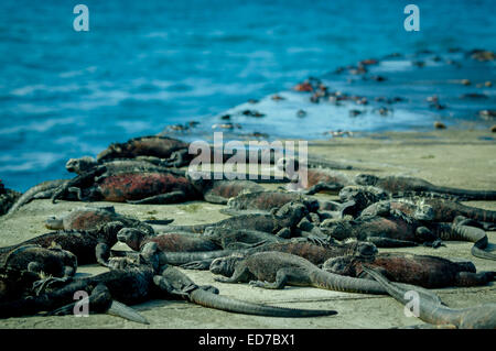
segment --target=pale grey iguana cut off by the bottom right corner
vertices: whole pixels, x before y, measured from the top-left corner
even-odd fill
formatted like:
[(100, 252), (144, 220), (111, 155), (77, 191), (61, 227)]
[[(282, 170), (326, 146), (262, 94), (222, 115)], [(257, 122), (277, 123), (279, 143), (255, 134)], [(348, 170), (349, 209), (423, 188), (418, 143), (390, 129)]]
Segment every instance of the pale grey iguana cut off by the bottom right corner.
[[(408, 288), (395, 285), (382, 274), (364, 267), (364, 271), (373, 276), (387, 292), (399, 303), (407, 305), (411, 297)], [(411, 289), (410, 289), (411, 290)], [(452, 325), (460, 329), (495, 329), (496, 304), (484, 304), (475, 307), (454, 309), (432, 303), (419, 294), (418, 318), (433, 325)]]

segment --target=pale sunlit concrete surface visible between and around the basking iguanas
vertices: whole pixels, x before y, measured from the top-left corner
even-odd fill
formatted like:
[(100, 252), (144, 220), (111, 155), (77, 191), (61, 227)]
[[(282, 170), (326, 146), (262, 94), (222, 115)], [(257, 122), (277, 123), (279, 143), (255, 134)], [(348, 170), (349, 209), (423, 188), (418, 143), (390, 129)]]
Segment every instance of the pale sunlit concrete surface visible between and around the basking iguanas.
[[(396, 174), (424, 178), (436, 185), (467, 189), (496, 189), (496, 134), (489, 130), (439, 130), (433, 132), (389, 132), (364, 138), (335, 138), (309, 142), (309, 153), (351, 164), (377, 175)], [(343, 171), (349, 174), (363, 171)], [(277, 185), (265, 185), (268, 188)], [(335, 198), (317, 195), (322, 198)], [(495, 201), (471, 201), (471, 206), (496, 210)], [(174, 224), (214, 222), (227, 216), (218, 212), (224, 206), (202, 201), (179, 205), (110, 205), (116, 211), (140, 220), (173, 218)], [(48, 216), (62, 215), (82, 202), (34, 200), (18, 212), (0, 217), (0, 245), (45, 233), (44, 221)], [(496, 250), (496, 232), (487, 232), (488, 250)], [(477, 271), (496, 271), (496, 262), (471, 255), (470, 242), (449, 241), (445, 246), (379, 249), (380, 252), (410, 252), (450, 260), (472, 261)], [(116, 249), (126, 250), (118, 243)], [(77, 274), (97, 274), (106, 268), (98, 265), (78, 267)], [(134, 323), (107, 315), (87, 318), (25, 317), (0, 320), (0, 328), (261, 328), (261, 329), (331, 329), (331, 328), (391, 328), (423, 323), (414, 317), (406, 317), (403, 307), (389, 296), (331, 292), (306, 287), (285, 287), (282, 290), (254, 288), (247, 284), (223, 284), (214, 281), (208, 271), (184, 272), (196, 284), (212, 284), (220, 294), (238, 299), (273, 306), (334, 309), (337, 315), (316, 318), (272, 318), (229, 314), (201, 307), (184, 300), (153, 300), (134, 308), (149, 321), (149, 326)], [(496, 301), (496, 286), (434, 289), (450, 307), (464, 308)]]

